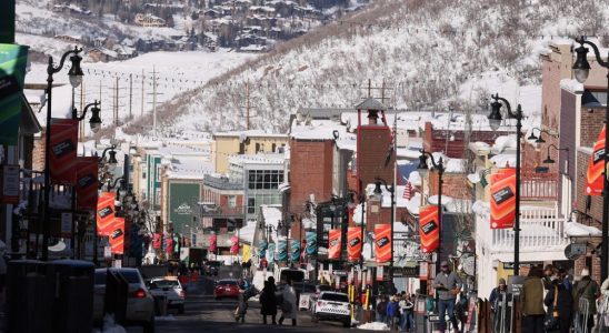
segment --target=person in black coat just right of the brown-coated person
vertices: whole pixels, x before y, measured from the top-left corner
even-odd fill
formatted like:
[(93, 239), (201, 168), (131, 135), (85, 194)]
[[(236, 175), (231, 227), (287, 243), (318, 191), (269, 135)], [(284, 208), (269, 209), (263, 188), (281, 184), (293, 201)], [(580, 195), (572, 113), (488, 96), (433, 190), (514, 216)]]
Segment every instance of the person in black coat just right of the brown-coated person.
[[(572, 323), (573, 296), (567, 290), (560, 275), (552, 280), (552, 285), (543, 303), (548, 306), (545, 329), (547, 333), (569, 333)], [(556, 323), (548, 325), (548, 323)]]

